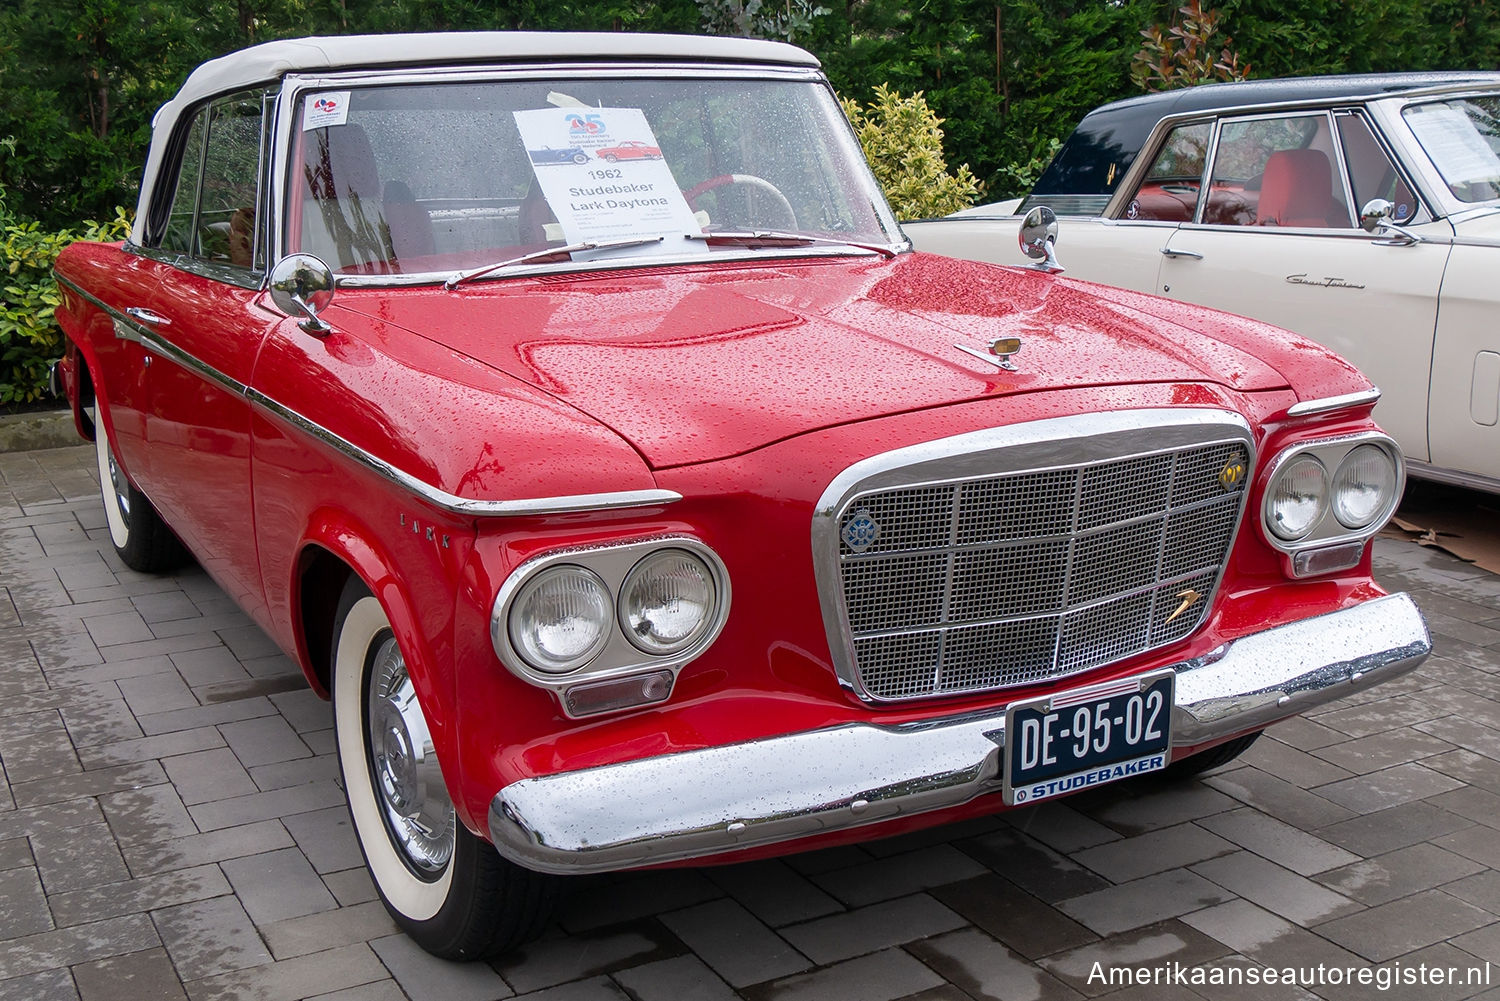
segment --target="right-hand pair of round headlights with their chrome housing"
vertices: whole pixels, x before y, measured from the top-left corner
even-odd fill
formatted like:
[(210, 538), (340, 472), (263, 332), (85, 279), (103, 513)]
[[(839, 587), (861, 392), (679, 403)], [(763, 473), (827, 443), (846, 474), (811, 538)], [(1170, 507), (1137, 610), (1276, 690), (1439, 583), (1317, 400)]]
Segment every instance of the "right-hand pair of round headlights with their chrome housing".
[[(1293, 557), (1296, 576), (1347, 569), (1395, 512), (1404, 480), (1401, 452), (1382, 434), (1287, 449), (1266, 486), (1266, 537)], [(1311, 557), (1311, 551), (1329, 555)]]

